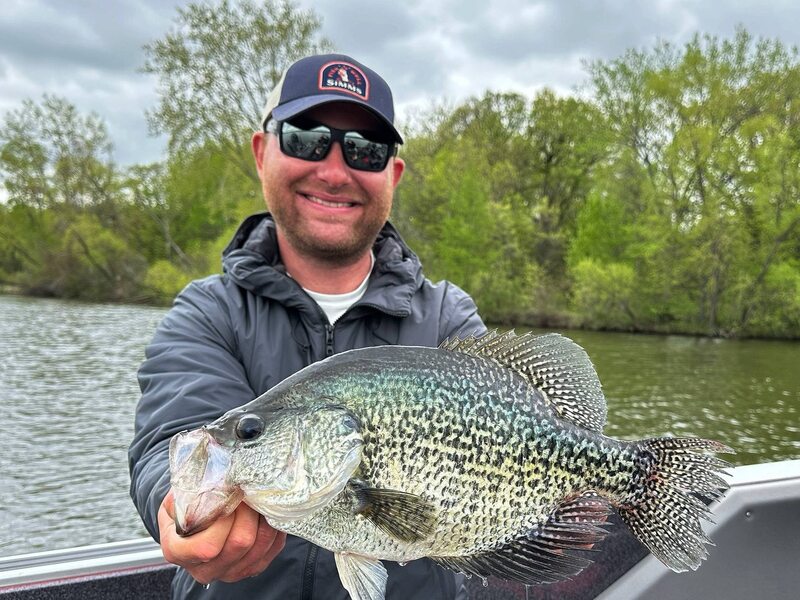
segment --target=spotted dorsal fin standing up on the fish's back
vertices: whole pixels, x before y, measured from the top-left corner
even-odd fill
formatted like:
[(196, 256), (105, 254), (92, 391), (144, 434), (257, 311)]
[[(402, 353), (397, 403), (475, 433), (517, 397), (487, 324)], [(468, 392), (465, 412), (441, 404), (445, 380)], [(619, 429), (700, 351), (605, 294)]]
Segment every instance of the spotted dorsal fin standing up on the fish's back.
[(490, 331), (482, 336), (445, 340), (439, 348), (493, 360), (542, 392), (564, 419), (591, 431), (606, 424), (606, 399), (586, 351), (558, 333), (517, 335)]

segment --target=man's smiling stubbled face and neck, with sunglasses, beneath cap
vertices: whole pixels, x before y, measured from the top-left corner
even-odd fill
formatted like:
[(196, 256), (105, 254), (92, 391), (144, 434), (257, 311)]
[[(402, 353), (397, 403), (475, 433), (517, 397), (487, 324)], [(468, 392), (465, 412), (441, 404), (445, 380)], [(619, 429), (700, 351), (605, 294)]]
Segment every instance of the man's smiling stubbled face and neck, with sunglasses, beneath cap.
[[(253, 153), (287, 270), (315, 291), (349, 291), (353, 277), (360, 282), (369, 273), (372, 244), (389, 218), (394, 188), (403, 174), (403, 161), (392, 156), (396, 142), (373, 114), (341, 101), (292, 120), (268, 117), (265, 125), (266, 132), (253, 135)], [(346, 133), (333, 142), (337, 130)], [(328, 144), (322, 154), (320, 148)], [(321, 160), (298, 160), (287, 153), (303, 151), (316, 152), (314, 157)], [(381, 166), (384, 159), (370, 160), (365, 156), (370, 152), (385, 156), (382, 169), (359, 167), (359, 160)]]

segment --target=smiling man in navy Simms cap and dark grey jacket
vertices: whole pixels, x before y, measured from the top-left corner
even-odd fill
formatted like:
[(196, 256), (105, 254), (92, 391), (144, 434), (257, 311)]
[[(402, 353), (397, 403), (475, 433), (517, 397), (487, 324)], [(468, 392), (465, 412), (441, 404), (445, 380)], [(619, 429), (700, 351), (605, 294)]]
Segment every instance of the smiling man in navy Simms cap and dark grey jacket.
[[(252, 140), (271, 214), (244, 221), (223, 253), (223, 275), (187, 286), (147, 348), (131, 496), (166, 559), (181, 567), (175, 597), (348, 598), (330, 552), (287, 538), (245, 504), (179, 537), (168, 493), (175, 433), (335, 352), (436, 346), (485, 329), (472, 299), (425, 279), (387, 222), (405, 166), (393, 121), (388, 85), (352, 58), (312, 56), (289, 67)], [(460, 580), (427, 559), (386, 566), (387, 598), (459, 594)]]

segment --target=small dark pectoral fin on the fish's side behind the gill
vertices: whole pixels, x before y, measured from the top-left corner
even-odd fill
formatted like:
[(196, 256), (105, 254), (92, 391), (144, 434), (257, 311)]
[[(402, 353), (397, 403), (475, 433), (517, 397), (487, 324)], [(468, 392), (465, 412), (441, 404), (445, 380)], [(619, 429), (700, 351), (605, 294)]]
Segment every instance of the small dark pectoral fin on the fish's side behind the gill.
[(354, 496), (353, 512), (369, 519), (393, 538), (412, 543), (433, 533), (436, 508), (424, 498), (398, 490), (369, 487), (359, 479), (351, 479), (347, 489)]

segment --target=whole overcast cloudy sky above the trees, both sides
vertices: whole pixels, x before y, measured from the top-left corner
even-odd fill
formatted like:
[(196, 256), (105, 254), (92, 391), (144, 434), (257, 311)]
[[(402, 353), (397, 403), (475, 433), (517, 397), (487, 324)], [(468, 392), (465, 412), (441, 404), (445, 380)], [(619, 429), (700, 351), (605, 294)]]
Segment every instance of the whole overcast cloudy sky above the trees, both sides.
[[(216, 0), (210, 0), (216, 1)], [(45, 93), (107, 123), (120, 164), (158, 160), (144, 111), (155, 82), (138, 72), (142, 46), (173, 26), (178, 0), (2, 0), (0, 113)], [(800, 2), (790, 0), (299, 0), (322, 17), (337, 49), (392, 86), (398, 112), (458, 102), (484, 90), (570, 93), (585, 60), (613, 59), (694, 33), (756, 36), (800, 45)]]

